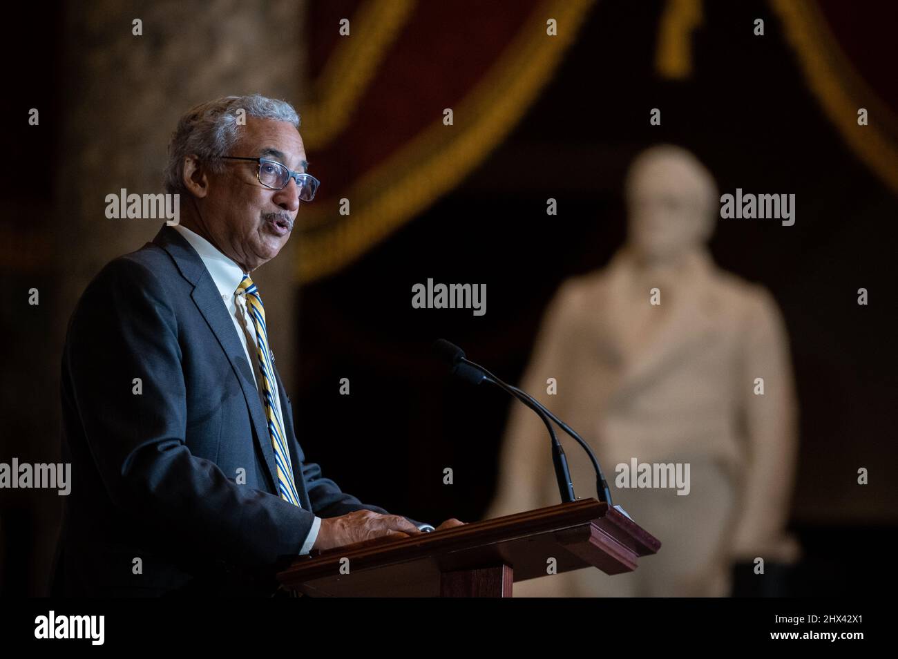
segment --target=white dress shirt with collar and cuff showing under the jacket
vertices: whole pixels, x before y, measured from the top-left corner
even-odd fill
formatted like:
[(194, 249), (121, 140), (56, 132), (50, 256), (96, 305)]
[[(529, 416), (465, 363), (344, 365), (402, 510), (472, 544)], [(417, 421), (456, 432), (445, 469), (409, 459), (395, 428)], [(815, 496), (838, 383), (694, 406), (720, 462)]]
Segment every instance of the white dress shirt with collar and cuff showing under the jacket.
[[(222, 296), (222, 303), (225, 304), (225, 308), (231, 316), (234, 329), (237, 331), (237, 336), (240, 337), (243, 352), (246, 353), (246, 360), (249, 362), (250, 370), (256, 380), (256, 389), (259, 390), (261, 373), (259, 370), (259, 357), (257, 353), (256, 328), (246, 311), (246, 303), (242, 299), (238, 299), (241, 296), (237, 295), (237, 286), (240, 286), (240, 283), (243, 280), (243, 269), (234, 263), (232, 259), (229, 259), (225, 254), (218, 251), (211, 242), (208, 242), (197, 233), (190, 231), (183, 224), (176, 224), (174, 228), (184, 236), (184, 239), (190, 243), (190, 246), (197, 251), (199, 258), (202, 259), (203, 263), (206, 265), (209, 275), (212, 276), (212, 281), (215, 282), (216, 288), (218, 288), (218, 293)], [(247, 342), (248, 337), (249, 343)], [(252, 347), (252, 350), (250, 350), (250, 346)], [(277, 387), (274, 391), (274, 399), (277, 414), (283, 415)], [(263, 403), (262, 408), (264, 409), (264, 407)], [(284, 427), (283, 418), (281, 426)], [(303, 548), (299, 551), (301, 555), (308, 554), (312, 549), (315, 540), (318, 538), (320, 529), (321, 518), (316, 515), (314, 522), (312, 523), (312, 529), (309, 531), (309, 535), (303, 543)]]

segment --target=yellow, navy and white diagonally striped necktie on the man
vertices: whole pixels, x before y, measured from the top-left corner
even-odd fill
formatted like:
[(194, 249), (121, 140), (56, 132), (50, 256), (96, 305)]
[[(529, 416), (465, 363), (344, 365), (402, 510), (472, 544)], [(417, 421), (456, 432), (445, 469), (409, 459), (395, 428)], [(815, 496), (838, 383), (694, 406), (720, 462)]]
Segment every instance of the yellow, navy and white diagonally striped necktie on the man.
[(252, 324), (256, 328), (256, 351), (259, 355), (259, 368), (262, 372), (262, 383), (265, 385), (265, 417), (269, 421), (269, 435), (271, 445), (275, 450), (275, 466), (277, 467), (277, 490), (285, 501), (291, 504), (299, 504), (299, 494), (296, 492), (296, 484), (293, 479), (293, 470), (290, 468), (290, 451), (286, 444), (284, 432), (284, 419), (281, 410), (276, 404), (277, 381), (275, 369), (271, 363), (271, 351), (269, 350), (269, 334), (265, 327), (265, 307), (262, 306), (262, 298), (256, 285), (252, 283), (249, 275), (243, 275), (236, 293), (244, 295), (246, 307), (250, 312)]

